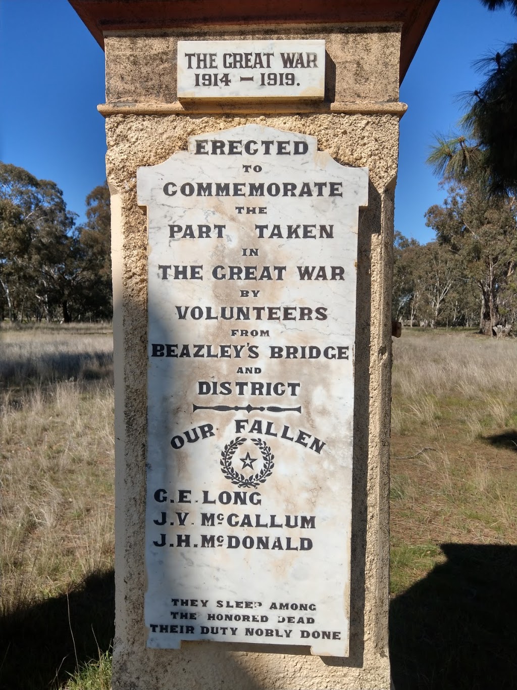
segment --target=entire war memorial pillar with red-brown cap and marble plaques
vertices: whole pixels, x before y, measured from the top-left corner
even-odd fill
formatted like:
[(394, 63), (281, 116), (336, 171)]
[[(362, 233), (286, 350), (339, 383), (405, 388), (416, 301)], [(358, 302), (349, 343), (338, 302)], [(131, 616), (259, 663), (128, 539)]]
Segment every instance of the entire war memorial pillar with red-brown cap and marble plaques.
[(398, 86), (436, 0), (70, 0), (105, 50), (115, 690), (388, 690)]

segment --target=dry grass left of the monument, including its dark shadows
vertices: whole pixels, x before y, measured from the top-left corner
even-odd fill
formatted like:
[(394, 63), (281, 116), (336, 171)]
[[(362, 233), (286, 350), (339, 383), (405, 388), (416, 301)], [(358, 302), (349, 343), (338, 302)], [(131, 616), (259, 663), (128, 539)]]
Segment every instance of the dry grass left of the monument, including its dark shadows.
[(0, 338), (0, 687), (100, 690), (70, 674), (112, 637), (112, 334)]

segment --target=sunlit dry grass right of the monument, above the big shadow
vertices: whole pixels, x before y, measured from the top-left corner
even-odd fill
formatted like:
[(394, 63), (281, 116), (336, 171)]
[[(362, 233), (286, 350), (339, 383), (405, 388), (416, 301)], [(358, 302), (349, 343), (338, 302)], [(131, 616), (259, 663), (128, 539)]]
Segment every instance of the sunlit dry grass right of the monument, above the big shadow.
[(405, 558), (392, 591), (440, 543), (516, 543), (516, 428), (516, 340), (405, 329), (394, 342), (392, 555), (430, 545), (436, 559)]

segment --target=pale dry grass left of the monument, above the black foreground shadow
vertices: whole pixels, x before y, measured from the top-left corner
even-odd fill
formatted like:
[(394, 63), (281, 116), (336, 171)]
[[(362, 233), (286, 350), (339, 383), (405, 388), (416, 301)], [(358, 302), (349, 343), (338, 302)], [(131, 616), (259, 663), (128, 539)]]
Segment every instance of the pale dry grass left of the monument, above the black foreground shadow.
[[(110, 335), (2, 333), (1, 604), (112, 562)], [(10, 593), (10, 594), (9, 594)]]

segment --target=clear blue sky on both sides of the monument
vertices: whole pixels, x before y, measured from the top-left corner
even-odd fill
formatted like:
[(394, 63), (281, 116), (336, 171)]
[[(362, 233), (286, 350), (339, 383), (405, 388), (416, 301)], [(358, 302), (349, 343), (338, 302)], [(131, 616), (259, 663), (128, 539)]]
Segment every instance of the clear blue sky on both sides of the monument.
[[(472, 61), (515, 41), (516, 28), (507, 10), (440, 0), (401, 87), (409, 108), (395, 227), (404, 235), (433, 239), (423, 215), (445, 197), (425, 164), (433, 135), (454, 128), (458, 93), (480, 83)], [(0, 0), (0, 51), (0, 159), (54, 180), (80, 221), (85, 196), (105, 179), (103, 52), (66, 0)]]

